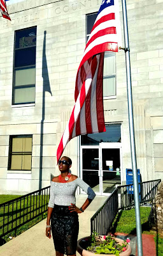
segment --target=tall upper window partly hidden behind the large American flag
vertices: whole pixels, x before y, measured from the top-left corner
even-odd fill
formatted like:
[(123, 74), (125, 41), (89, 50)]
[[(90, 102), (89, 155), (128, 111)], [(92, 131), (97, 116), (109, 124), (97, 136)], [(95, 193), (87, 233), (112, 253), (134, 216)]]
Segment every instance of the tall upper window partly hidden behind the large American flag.
[[(94, 26), (97, 13), (87, 15), (87, 40)], [(104, 69), (103, 69), (103, 97), (115, 97), (116, 92), (116, 63), (115, 52), (104, 52)]]

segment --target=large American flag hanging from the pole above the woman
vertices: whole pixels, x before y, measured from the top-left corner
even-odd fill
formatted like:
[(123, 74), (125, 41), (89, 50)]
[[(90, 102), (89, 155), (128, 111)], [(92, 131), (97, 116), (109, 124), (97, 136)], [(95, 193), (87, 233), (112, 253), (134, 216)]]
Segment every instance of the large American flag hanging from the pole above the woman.
[(72, 138), (106, 131), (103, 111), (105, 51), (118, 51), (118, 0), (103, 0), (76, 75), (75, 105), (57, 148), (57, 163)]

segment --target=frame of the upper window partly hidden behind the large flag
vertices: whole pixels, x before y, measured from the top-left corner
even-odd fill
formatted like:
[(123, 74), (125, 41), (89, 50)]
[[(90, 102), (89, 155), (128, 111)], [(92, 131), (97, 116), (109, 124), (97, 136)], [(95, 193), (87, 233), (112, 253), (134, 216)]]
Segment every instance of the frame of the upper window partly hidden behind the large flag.
[[(85, 28), (85, 31), (86, 31), (86, 44), (87, 44), (87, 40), (90, 36), (90, 34), (87, 34), (87, 28), (88, 28), (88, 17), (89, 15), (94, 15), (94, 14), (97, 14), (98, 12), (93, 12), (93, 13), (87, 13), (86, 14), (86, 28)], [(111, 51), (106, 51), (104, 52), (104, 56), (105, 55), (108, 55), (108, 54), (114, 54), (115, 56), (115, 74), (112, 74), (110, 76), (103, 76), (103, 80), (104, 79), (107, 79), (107, 78), (110, 78), (110, 77), (115, 77), (115, 95), (110, 95), (110, 96), (103, 96), (103, 99), (106, 100), (106, 99), (117, 99), (117, 65), (116, 65), (116, 54), (115, 52), (111, 52)]]

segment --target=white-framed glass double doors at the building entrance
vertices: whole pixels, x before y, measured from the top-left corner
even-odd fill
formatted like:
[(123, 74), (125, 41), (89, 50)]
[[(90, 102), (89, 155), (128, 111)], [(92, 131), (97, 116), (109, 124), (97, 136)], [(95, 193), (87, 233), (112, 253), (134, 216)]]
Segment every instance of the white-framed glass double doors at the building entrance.
[(97, 195), (110, 195), (120, 186), (121, 143), (81, 146), (82, 179)]

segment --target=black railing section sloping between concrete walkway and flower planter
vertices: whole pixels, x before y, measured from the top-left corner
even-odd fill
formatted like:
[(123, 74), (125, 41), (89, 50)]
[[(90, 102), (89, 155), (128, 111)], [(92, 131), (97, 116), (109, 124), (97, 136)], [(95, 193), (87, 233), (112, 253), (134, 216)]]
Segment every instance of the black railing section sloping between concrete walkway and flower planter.
[(108, 231), (118, 212), (118, 189), (107, 198), (103, 206), (90, 219), (91, 234), (93, 231), (103, 236), (108, 234)]

